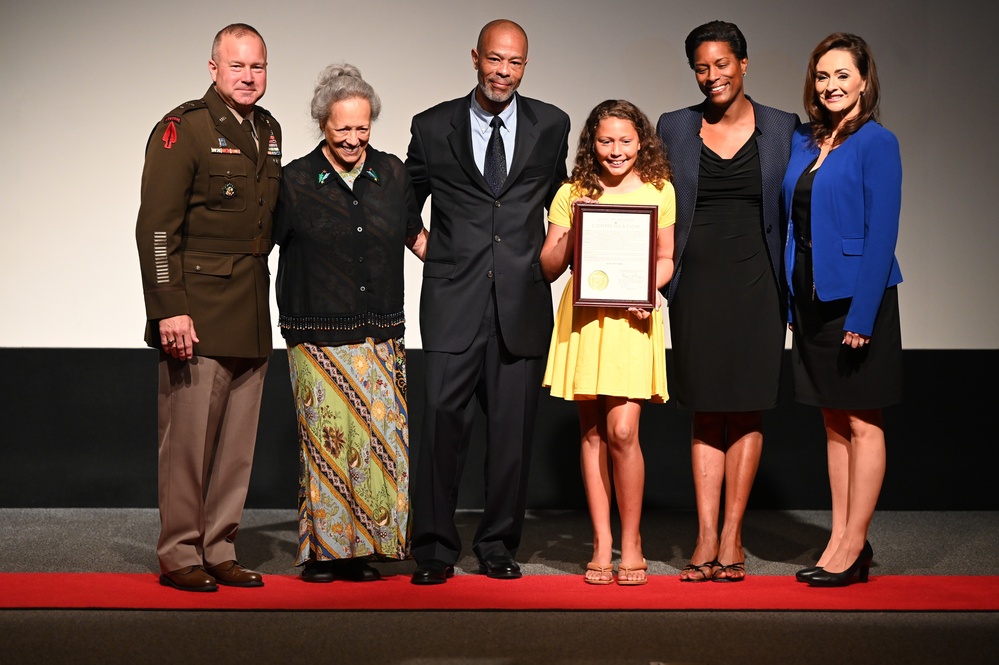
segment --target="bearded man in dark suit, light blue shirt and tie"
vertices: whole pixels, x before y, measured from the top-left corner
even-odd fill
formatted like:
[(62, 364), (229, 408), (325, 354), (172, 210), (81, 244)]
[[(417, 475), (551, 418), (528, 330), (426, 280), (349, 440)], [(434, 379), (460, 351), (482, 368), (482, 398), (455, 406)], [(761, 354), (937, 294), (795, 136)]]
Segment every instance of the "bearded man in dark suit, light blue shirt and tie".
[(486, 505), (472, 542), (479, 572), (521, 576), (534, 416), (552, 329), (539, 255), (544, 209), (566, 177), (569, 118), (516, 93), (527, 35), (488, 23), (472, 50), (478, 85), (413, 118), (406, 159), (422, 211), (430, 197), (420, 331), (426, 410), (413, 479), (414, 584), (454, 574), (454, 523), (472, 396), (486, 413)]

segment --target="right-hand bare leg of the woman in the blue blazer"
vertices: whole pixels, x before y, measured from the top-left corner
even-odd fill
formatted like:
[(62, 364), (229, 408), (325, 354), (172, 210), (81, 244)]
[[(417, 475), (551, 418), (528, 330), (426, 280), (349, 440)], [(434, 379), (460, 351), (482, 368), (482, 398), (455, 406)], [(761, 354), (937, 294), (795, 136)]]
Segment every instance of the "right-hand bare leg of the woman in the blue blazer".
[(887, 453), (880, 409), (843, 412), (850, 442), (846, 523), (835, 551), (823, 569), (840, 573), (853, 565), (867, 540), (867, 529), (881, 494)]

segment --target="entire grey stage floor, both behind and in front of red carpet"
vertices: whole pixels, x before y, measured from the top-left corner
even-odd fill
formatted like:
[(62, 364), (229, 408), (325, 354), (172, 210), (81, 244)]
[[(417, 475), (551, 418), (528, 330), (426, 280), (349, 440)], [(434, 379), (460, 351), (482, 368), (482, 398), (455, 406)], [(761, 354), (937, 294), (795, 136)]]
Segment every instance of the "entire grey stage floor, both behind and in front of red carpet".
[[(471, 538), (477, 514), (461, 513)], [(751, 512), (749, 575), (791, 575), (828, 537), (825, 512)], [(155, 510), (0, 509), (0, 572), (157, 570)], [(247, 511), (243, 563), (295, 574), (293, 510)], [(653, 575), (676, 575), (692, 513), (647, 512)], [(582, 573), (583, 512), (530, 514), (528, 574)], [(872, 575), (997, 575), (999, 513), (881, 512)], [(412, 562), (381, 564), (408, 574)], [(474, 570), (459, 561), (459, 574)], [(516, 582), (508, 584), (516, 592)], [(224, 592), (224, 590), (222, 591)], [(179, 593), (179, 592), (178, 592)], [(365, 663), (377, 665), (948, 665), (999, 663), (989, 612), (200, 612), (0, 611), (0, 663)]]

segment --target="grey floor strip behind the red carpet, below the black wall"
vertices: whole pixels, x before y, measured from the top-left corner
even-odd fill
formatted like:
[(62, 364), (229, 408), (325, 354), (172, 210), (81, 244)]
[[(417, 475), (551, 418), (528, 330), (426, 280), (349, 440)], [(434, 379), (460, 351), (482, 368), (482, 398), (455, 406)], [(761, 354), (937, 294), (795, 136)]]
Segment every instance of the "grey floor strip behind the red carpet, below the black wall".
[[(461, 511), (471, 541), (479, 514)], [(743, 541), (748, 575), (792, 575), (814, 563), (829, 537), (825, 511), (750, 511)], [(0, 509), (0, 572), (158, 572), (155, 509)], [(263, 573), (294, 575), (294, 510), (247, 510), (237, 551)], [(691, 512), (646, 511), (642, 539), (650, 575), (676, 575), (697, 535)], [(582, 511), (528, 513), (518, 560), (529, 575), (582, 574), (592, 551)], [(879, 512), (871, 525), (873, 575), (999, 575), (999, 513)], [(379, 564), (409, 574), (412, 562)], [(466, 548), (457, 573), (475, 571)]]

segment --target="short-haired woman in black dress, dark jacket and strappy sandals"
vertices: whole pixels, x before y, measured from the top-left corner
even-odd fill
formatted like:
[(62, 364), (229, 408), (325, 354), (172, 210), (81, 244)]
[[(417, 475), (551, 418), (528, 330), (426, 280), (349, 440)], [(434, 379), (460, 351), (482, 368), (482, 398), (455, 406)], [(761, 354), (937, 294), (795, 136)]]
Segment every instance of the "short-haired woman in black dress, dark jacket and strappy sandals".
[[(684, 582), (745, 578), (742, 522), (777, 405), (785, 338), (780, 182), (798, 117), (746, 96), (746, 38), (724, 21), (684, 44), (704, 101), (664, 113), (676, 187), (670, 335), (679, 405), (693, 412), (698, 535)], [(725, 521), (719, 536), (722, 486)]]

